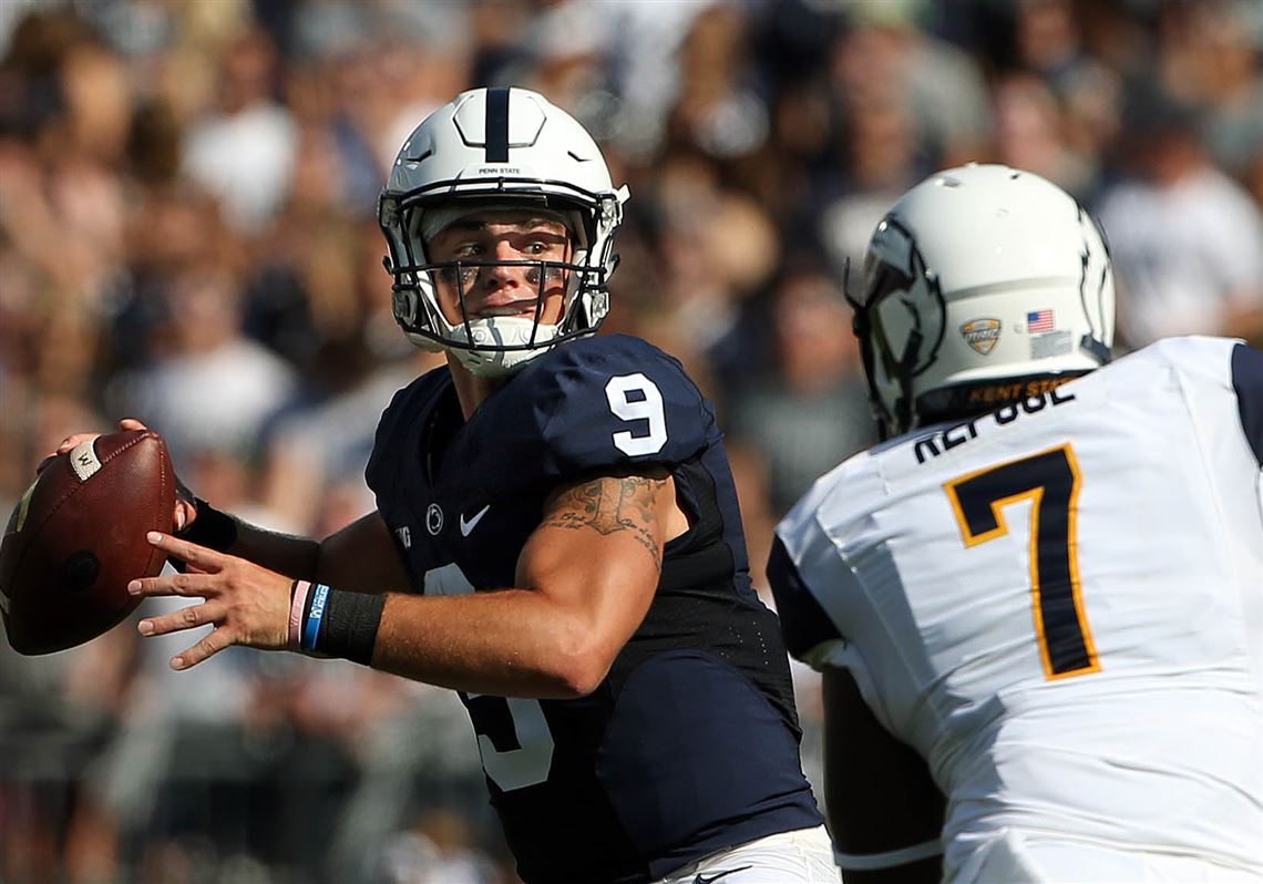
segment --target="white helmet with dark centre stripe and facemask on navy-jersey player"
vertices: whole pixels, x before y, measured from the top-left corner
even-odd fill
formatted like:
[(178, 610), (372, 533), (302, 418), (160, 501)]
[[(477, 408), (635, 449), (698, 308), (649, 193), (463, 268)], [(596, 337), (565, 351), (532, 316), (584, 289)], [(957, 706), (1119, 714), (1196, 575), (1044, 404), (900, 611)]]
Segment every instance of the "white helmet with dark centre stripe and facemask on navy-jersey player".
[[(471, 373), (491, 378), (512, 374), (561, 341), (591, 335), (609, 312), (606, 284), (618, 265), (613, 237), (626, 198), (626, 186), (614, 188), (592, 136), (542, 95), (523, 88), (462, 92), (404, 141), (378, 200), (395, 321), (417, 346), (447, 350)], [(566, 273), (556, 326), (541, 323), (538, 313), (533, 320), (470, 320), (466, 313), (455, 326), (443, 317), (433, 274), (491, 261), (429, 261), (423, 234), (432, 225), (426, 216), (437, 210), (451, 217), (452, 210), (480, 206), (543, 208), (570, 221), (571, 263), (520, 261), (538, 266), (541, 280)], [(462, 292), (462, 313), (464, 298)]]

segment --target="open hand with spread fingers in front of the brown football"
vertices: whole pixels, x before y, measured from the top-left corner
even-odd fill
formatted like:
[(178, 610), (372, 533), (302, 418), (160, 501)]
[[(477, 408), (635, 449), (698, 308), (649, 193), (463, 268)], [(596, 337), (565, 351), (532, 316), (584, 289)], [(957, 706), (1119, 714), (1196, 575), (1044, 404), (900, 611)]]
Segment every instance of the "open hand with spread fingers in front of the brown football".
[(128, 583), (139, 596), (205, 599), (172, 614), (145, 618), (141, 635), (165, 635), (213, 625), (208, 635), (171, 659), (172, 669), (187, 669), (229, 645), (282, 650), (289, 639), (289, 590), (293, 581), (244, 558), (198, 547), (171, 534), (149, 533), (149, 542), (189, 564), (182, 575), (145, 577)]

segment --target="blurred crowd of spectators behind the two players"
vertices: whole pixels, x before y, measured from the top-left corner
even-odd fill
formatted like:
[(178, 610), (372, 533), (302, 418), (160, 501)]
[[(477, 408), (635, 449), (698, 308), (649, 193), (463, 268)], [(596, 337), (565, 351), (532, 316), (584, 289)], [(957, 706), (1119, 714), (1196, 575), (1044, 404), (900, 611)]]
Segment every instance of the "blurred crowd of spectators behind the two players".
[[(937, 168), (1095, 211), (1120, 352), (1263, 343), (1257, 0), (4, 0), (4, 511), (123, 417), (258, 524), (371, 509), (376, 418), (437, 364), (392, 320), (374, 201), (427, 112), (495, 85), (570, 110), (630, 184), (606, 328), (715, 400), (757, 571), (875, 441), (845, 268)], [(514, 880), (453, 696), (235, 649), (171, 672), (189, 643), (0, 643), (0, 880)]]

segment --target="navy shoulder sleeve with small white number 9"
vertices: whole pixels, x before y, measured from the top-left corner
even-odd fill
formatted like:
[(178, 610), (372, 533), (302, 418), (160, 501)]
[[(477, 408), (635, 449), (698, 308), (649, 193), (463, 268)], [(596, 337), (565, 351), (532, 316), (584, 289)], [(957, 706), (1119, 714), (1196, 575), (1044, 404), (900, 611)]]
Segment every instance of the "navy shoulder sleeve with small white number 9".
[(578, 341), (529, 371), (548, 479), (674, 467), (719, 441), (714, 409), (679, 362), (639, 338)]

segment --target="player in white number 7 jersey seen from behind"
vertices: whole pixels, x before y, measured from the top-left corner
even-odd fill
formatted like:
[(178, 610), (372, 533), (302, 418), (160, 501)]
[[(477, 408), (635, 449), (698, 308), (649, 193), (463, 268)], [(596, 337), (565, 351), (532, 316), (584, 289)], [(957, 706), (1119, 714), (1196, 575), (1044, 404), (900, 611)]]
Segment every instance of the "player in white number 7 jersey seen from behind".
[(999, 165), (904, 194), (863, 279), (885, 441), (768, 568), (846, 880), (1259, 880), (1263, 355), (1105, 365), (1100, 232)]

